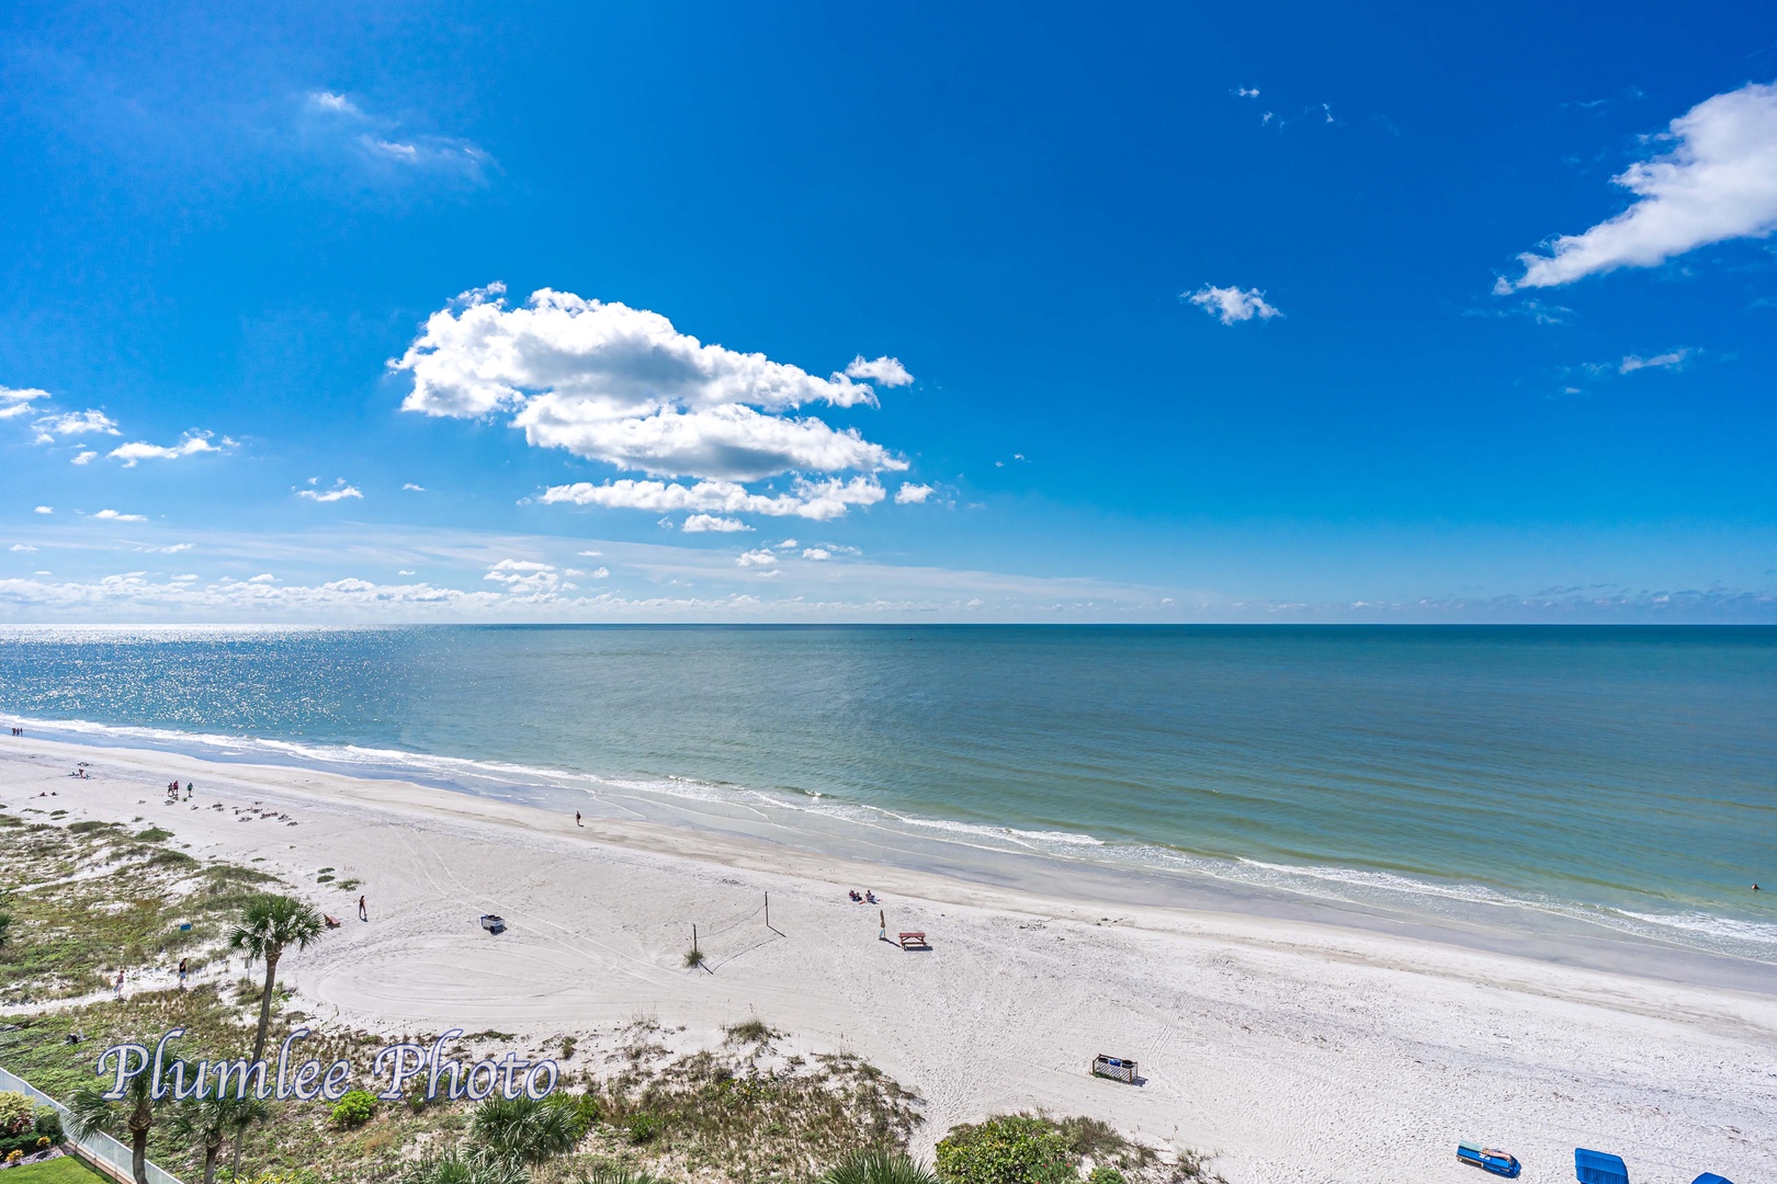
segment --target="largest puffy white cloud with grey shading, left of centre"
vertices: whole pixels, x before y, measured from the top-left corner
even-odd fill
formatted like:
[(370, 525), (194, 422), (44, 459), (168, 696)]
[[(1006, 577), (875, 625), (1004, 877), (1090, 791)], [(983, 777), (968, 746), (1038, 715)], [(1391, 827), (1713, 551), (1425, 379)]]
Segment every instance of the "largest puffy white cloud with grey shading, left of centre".
[(506, 307), (501, 293), (498, 284), (464, 293), (389, 364), (414, 376), (405, 410), (510, 412), (537, 447), (661, 478), (906, 469), (855, 428), (791, 414), (810, 403), (873, 407), (867, 383), (704, 344), (647, 309), (549, 289)]

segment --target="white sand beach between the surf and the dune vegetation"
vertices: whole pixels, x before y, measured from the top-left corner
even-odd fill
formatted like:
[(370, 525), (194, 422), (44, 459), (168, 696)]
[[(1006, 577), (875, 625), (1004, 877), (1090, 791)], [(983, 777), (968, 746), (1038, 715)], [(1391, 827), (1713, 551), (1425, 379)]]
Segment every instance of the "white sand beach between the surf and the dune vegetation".
[[(91, 779), (68, 776), (75, 762)], [(174, 774), (195, 783), (190, 804), (162, 802)], [(0, 749), (0, 801), (64, 822), (146, 818), (194, 856), (263, 859), (345, 921), (286, 959), (322, 1024), (542, 1042), (650, 1017), (695, 1044), (759, 1017), (915, 1090), (928, 1154), (951, 1124), (1048, 1108), (1214, 1154), (1233, 1184), (1486, 1179), (1455, 1161), (1459, 1140), (1512, 1150), (1537, 1184), (1573, 1179), (1574, 1145), (1624, 1156), (1637, 1184), (1777, 1180), (1777, 983), (1111, 912), (656, 824), (576, 827), (400, 781), (28, 737)], [(315, 882), (320, 868), (363, 880), (368, 923), (355, 891)], [(890, 937), (924, 930), (931, 951), (878, 941), (878, 909), (849, 888), (883, 896)], [(508, 930), (482, 932), (482, 912)], [(682, 966), (693, 923), (709, 971)], [(1137, 1060), (1144, 1083), (1088, 1076), (1096, 1053)]]

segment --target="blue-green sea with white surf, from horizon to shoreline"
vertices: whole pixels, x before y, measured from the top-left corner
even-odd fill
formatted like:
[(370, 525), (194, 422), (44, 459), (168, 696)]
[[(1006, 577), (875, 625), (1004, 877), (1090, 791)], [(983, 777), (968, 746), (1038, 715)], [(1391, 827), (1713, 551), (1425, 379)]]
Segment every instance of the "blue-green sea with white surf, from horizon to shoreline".
[(1777, 964), (1772, 628), (9, 628), (0, 712)]

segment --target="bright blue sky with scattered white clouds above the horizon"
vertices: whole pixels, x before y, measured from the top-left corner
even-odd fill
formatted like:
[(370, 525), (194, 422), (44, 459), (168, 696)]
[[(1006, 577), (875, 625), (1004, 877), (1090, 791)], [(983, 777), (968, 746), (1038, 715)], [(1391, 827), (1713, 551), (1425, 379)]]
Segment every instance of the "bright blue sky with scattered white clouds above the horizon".
[(0, 620), (1777, 620), (1770, 5), (251, 9), (0, 14)]

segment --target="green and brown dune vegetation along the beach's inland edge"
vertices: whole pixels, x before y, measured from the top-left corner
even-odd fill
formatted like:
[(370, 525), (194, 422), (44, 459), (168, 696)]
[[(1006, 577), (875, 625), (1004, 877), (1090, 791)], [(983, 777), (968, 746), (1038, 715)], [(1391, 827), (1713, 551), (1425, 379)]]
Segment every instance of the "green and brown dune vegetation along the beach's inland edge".
[[(1214, 1180), (1191, 1154), (1160, 1154), (1086, 1118), (1002, 1115), (956, 1127), (936, 1164), (908, 1157), (920, 1099), (849, 1054), (784, 1054), (784, 1033), (762, 1021), (730, 1026), (716, 1049), (672, 1053), (657, 1021), (538, 1037), (528, 1056), (556, 1051), (560, 1086), (542, 1101), (382, 1102), (354, 1090), (338, 1104), (249, 1101), (107, 1102), (94, 1058), (119, 1042), (155, 1042), (185, 1028), (185, 1060), (240, 1058), (313, 1024), (277, 985), (290, 948), (316, 941), (320, 916), (288, 886), (236, 864), (201, 863), (171, 834), (123, 824), (21, 822), (0, 813), (0, 879), (12, 914), (0, 946), (0, 1065), (69, 1102), (82, 1129), (114, 1133), (135, 1152), (137, 1180), (151, 1159), (192, 1184), (332, 1184), (387, 1177), (396, 1184), (1194, 1184)], [(153, 838), (146, 838), (155, 834)], [(188, 928), (187, 928), (188, 927)], [(188, 989), (144, 989), (123, 999), (121, 966), (171, 969), (226, 964), (229, 951), (265, 964), (261, 980), (210, 973)], [(171, 983), (171, 975), (158, 982)], [(53, 1008), (34, 1006), (59, 1001)], [(423, 1031), (315, 1031), (304, 1056), (368, 1067), (377, 1049)], [(444, 1051), (476, 1058), (514, 1047), (503, 1031), (460, 1037)], [(572, 1051), (570, 1051), (572, 1049)], [(36, 1117), (32, 1118), (36, 1120)], [(224, 1164), (229, 1143), (240, 1170)], [(64, 1157), (66, 1159), (66, 1157)], [(32, 1164), (4, 1184), (89, 1184), (85, 1168)], [(43, 1175), (44, 1168), (53, 1168)]]

